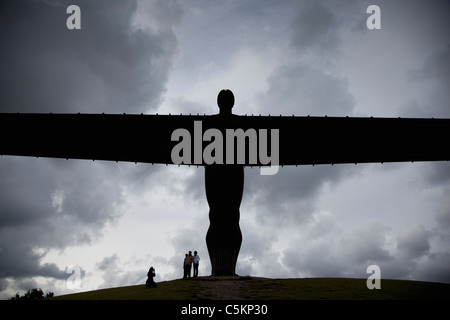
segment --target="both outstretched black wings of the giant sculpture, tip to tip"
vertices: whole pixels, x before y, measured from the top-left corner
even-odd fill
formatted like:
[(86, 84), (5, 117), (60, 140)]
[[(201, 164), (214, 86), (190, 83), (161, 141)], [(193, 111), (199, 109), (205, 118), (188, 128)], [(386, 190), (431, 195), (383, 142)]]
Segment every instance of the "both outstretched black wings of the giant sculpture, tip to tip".
[[(173, 131), (184, 128), (190, 133), (193, 154), (194, 139), (198, 141), (203, 132), (215, 128), (217, 119), (190, 115), (3, 113), (0, 154), (173, 164), (171, 152), (179, 143), (172, 141)], [(195, 121), (201, 121), (200, 135), (195, 135)], [(269, 142), (271, 130), (278, 129), (280, 165), (450, 159), (450, 119), (234, 116), (232, 123), (233, 129), (255, 130), (258, 138), (260, 129), (267, 130)], [(204, 147), (210, 142), (201, 143)], [(250, 164), (248, 158), (246, 164)], [(258, 157), (253, 165), (260, 164)]]

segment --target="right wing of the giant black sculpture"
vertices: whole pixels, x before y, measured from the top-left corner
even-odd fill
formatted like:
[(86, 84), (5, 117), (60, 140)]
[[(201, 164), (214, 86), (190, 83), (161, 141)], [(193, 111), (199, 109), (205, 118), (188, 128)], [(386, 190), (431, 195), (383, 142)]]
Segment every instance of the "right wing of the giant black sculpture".
[(278, 128), (280, 164), (450, 159), (450, 119), (248, 117), (249, 127)]

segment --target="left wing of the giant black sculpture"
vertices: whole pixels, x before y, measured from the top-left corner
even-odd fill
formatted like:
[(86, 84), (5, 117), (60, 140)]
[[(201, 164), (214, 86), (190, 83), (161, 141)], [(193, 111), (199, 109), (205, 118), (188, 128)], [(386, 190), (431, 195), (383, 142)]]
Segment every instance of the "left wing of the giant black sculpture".
[(171, 143), (171, 133), (182, 127), (185, 119), (163, 115), (0, 114), (0, 154), (169, 164), (176, 143)]

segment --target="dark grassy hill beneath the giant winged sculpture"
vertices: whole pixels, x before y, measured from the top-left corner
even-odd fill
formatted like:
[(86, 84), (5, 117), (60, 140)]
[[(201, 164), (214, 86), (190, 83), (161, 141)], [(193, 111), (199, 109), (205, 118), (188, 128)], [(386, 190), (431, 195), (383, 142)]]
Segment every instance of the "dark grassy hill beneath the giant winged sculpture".
[(369, 290), (366, 279), (199, 277), (57, 296), (55, 300), (410, 300), (450, 299), (450, 284), (381, 280)]

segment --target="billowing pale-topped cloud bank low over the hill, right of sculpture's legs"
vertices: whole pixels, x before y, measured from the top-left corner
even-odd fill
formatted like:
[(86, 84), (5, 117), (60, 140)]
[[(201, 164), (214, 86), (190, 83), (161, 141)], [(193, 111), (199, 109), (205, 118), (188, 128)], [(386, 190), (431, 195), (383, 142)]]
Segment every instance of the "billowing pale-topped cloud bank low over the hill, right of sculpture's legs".
[[(314, 232), (317, 229), (325, 232)], [(299, 231), (281, 255), (290, 274), (299, 277), (366, 278), (367, 267), (375, 264), (381, 269), (382, 279), (450, 279), (448, 253), (431, 245), (439, 235), (420, 225), (396, 234), (374, 220), (341, 230), (336, 221), (315, 217)]]

